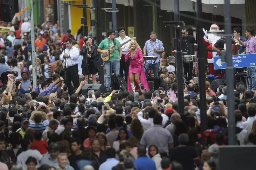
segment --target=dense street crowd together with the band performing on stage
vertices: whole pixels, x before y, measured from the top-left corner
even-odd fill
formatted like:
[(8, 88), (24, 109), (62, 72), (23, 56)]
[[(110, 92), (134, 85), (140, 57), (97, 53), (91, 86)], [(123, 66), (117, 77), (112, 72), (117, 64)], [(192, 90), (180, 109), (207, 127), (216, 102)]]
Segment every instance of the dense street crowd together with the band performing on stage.
[[(218, 169), (218, 147), (227, 145), (228, 139), (227, 87), (211, 89), (205, 81), (207, 119), (201, 120), (200, 87), (192, 79), (196, 63), (184, 65), (187, 84), (177, 84), (174, 63), (168, 62), (156, 32), (150, 33), (141, 49), (134, 38), (125, 35), (124, 27), (118, 28), (116, 39), (115, 31), (108, 30), (109, 38), (97, 45), (93, 37), (84, 37), (81, 29), (75, 36), (70, 30), (61, 35), (58, 24), (45, 22), (35, 31), (36, 75), (32, 75), (28, 19), (1, 24), (11, 30), (0, 39), (2, 169)], [(219, 27), (213, 24), (211, 30), (215, 29)], [(252, 31), (246, 30), (246, 38)], [(196, 42), (188, 33), (182, 29), (184, 50), (186, 42)], [(214, 49), (211, 33), (205, 33), (205, 43)], [(239, 29), (234, 29), (234, 34), (239, 42), (243, 40)], [(97, 52), (108, 56), (104, 50), (111, 46), (117, 48), (104, 63), (108, 92), (91, 89), (82, 93), (89, 81), (99, 83)], [(251, 53), (249, 49), (246, 53)], [(209, 52), (211, 57), (213, 52)], [(157, 58), (144, 60), (145, 56)], [(208, 63), (207, 77), (215, 74), (211, 58)], [(114, 74), (125, 73), (126, 90), (111, 89), (112, 70)], [(37, 77), (37, 87), (32, 87), (32, 76)], [(81, 76), (84, 80), (79, 82)], [(148, 77), (160, 77), (160, 87), (150, 91)], [(182, 111), (178, 110), (178, 86), (184, 87)], [(254, 145), (256, 96), (246, 91), (243, 82), (236, 83), (234, 90), (236, 143)], [(201, 121), (207, 121), (203, 137)]]

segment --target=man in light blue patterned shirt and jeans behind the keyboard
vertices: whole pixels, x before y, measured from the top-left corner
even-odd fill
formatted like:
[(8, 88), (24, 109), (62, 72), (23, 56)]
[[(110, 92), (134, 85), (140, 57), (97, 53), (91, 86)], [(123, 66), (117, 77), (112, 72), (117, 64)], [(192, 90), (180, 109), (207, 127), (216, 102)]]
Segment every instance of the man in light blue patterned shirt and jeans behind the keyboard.
[[(160, 56), (161, 53), (164, 52), (164, 46), (162, 41), (157, 39), (157, 33), (155, 31), (151, 31), (150, 39), (146, 41), (145, 46), (143, 48), (143, 56), (146, 56), (146, 52), (148, 52), (148, 56), (156, 56), (157, 59), (154, 64), (154, 60), (147, 60), (145, 63), (145, 68), (149, 71), (152, 67), (152, 71), (155, 77), (158, 77), (158, 70), (160, 65)], [(145, 76), (148, 77), (148, 73), (145, 70)]]

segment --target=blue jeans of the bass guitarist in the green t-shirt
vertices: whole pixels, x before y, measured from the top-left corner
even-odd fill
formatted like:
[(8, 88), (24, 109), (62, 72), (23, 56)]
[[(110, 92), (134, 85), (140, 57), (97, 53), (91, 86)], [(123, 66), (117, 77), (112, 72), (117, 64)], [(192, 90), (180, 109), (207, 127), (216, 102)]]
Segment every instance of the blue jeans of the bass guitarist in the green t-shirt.
[[(110, 68), (110, 63), (111, 62), (111, 68)], [(105, 69), (106, 69), (106, 89), (107, 91), (111, 91), (110, 89), (110, 85), (111, 85), (111, 73), (112, 73), (112, 69), (114, 70), (114, 74), (120, 74), (120, 61), (107, 61), (105, 63)]]

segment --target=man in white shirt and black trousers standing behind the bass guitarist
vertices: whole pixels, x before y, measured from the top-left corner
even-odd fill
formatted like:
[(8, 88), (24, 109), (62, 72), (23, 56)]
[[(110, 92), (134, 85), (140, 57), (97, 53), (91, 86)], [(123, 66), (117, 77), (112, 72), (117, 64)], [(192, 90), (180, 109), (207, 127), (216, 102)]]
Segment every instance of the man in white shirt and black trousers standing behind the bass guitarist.
[[(116, 39), (120, 42), (120, 44), (128, 41), (129, 39), (131, 39), (130, 37), (125, 35), (125, 28), (124, 27), (119, 27), (117, 29), (118, 34), (120, 35), (119, 37), (117, 37)], [(125, 62), (125, 54), (128, 51), (128, 47), (130, 45), (130, 42), (126, 43), (125, 45), (123, 45), (122, 48), (122, 58), (120, 60), (120, 75), (123, 75), (123, 71), (125, 70), (125, 81), (127, 83), (127, 75), (128, 75), (128, 69), (129, 69), (129, 64), (130, 64), (130, 59), (128, 59)]]

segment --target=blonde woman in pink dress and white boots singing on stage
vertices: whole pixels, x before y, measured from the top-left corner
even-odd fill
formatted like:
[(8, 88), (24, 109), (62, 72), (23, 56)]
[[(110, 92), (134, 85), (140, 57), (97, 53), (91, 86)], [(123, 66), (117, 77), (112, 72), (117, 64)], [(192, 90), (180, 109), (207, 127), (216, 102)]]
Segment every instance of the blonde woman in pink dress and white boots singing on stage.
[(149, 90), (148, 82), (144, 73), (144, 59), (141, 48), (137, 41), (130, 42), (129, 50), (125, 54), (125, 62), (130, 58), (128, 74), (128, 91), (135, 92), (143, 84), (144, 89)]

